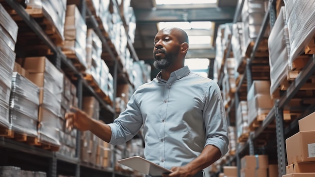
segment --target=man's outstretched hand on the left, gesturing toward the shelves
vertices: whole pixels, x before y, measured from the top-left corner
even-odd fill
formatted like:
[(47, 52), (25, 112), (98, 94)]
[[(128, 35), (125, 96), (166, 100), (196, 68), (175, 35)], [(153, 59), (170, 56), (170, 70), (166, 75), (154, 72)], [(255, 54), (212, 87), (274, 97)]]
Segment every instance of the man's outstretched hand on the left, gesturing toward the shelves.
[(65, 114), (66, 128), (71, 131), (76, 128), (80, 131), (91, 130), (93, 120), (84, 111), (71, 107), (70, 112)]

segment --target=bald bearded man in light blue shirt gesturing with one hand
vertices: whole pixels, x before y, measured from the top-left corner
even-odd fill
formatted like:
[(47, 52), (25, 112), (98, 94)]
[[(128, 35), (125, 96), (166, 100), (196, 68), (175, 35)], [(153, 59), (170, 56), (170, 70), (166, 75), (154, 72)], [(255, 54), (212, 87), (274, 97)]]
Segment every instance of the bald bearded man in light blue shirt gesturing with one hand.
[(77, 110), (66, 115), (67, 126), (115, 145), (143, 125), (145, 158), (173, 171), (163, 176), (202, 176), (228, 150), (227, 124), (218, 85), (184, 67), (188, 47), (182, 29), (160, 30), (153, 55), (161, 72), (134, 92), (114, 123), (101, 124)]

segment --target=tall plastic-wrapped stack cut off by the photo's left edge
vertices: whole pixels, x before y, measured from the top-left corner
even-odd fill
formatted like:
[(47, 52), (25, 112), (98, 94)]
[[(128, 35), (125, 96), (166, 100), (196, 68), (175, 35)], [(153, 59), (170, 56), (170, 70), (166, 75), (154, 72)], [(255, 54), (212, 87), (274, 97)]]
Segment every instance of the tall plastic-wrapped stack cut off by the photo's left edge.
[(9, 128), (9, 99), (18, 25), (0, 5), (0, 126)]

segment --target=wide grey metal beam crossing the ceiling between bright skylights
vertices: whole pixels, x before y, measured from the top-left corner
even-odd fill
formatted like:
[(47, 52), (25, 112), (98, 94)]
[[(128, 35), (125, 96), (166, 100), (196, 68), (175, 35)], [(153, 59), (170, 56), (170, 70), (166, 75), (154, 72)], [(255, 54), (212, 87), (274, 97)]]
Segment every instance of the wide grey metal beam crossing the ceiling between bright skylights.
[(212, 21), (228, 23), (233, 21), (235, 8), (202, 9), (137, 9), (134, 14), (139, 23)]

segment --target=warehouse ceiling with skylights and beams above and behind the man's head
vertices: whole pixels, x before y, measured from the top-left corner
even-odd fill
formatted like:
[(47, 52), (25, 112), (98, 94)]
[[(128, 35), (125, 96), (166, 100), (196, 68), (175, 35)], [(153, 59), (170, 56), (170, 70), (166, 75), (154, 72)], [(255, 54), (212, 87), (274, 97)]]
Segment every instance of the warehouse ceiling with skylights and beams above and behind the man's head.
[[(177, 1), (179, 0), (174, 0), (172, 3)], [(213, 2), (213, 0), (209, 1)], [(219, 24), (233, 21), (236, 5), (237, 0), (218, 0), (215, 4), (183, 5), (157, 5), (155, 0), (131, 0), (137, 22), (134, 48), (139, 60), (152, 64), (153, 39), (159, 30), (159, 22), (212, 22), (209, 29), (193, 27), (194, 29), (185, 30), (189, 36), (211, 36), (208, 45), (191, 45), (186, 58), (214, 58), (217, 27)], [(152, 67), (152, 75), (154, 76), (157, 72)]]

